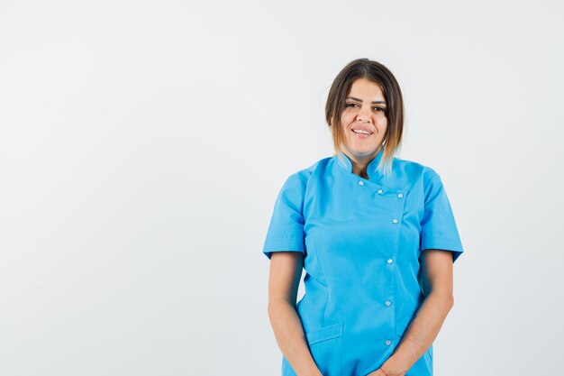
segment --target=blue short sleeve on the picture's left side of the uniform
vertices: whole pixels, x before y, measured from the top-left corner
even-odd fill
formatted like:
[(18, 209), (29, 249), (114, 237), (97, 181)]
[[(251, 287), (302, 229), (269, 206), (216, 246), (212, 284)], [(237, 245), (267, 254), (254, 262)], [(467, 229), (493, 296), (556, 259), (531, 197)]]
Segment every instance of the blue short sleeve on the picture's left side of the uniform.
[(305, 253), (304, 197), (305, 181), (298, 173), (290, 175), (278, 193), (270, 218), (262, 249), (268, 260), (272, 252)]

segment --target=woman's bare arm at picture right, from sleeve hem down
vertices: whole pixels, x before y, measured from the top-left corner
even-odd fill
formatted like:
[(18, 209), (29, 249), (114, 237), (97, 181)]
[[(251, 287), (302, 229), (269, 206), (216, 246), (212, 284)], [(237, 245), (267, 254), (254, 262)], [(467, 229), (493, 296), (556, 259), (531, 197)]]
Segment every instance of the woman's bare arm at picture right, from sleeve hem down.
[(452, 295), (452, 253), (442, 250), (422, 252), (423, 294), (425, 299), (401, 343), (381, 369), (387, 376), (403, 376), (431, 347), (442, 323), (454, 304)]

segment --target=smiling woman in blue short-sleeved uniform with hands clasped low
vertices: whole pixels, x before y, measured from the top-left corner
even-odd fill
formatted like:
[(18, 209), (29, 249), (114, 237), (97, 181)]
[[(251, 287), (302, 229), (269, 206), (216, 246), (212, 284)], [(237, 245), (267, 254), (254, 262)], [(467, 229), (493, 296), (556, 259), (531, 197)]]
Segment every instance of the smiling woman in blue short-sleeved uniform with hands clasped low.
[(441, 178), (394, 157), (403, 99), (377, 61), (341, 70), (325, 115), (335, 154), (287, 178), (263, 248), (282, 375), (432, 375), (463, 252)]

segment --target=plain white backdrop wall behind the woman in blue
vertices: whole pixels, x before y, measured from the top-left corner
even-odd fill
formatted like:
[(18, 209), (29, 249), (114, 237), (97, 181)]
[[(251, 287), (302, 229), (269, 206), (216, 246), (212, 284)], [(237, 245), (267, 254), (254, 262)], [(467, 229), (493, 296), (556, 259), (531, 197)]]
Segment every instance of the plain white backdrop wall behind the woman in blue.
[[(0, 0), (0, 375), (277, 375), (261, 253), (336, 74), (405, 96), (465, 248), (437, 376), (555, 374), (558, 1)], [(300, 296), (303, 294), (300, 286)]]

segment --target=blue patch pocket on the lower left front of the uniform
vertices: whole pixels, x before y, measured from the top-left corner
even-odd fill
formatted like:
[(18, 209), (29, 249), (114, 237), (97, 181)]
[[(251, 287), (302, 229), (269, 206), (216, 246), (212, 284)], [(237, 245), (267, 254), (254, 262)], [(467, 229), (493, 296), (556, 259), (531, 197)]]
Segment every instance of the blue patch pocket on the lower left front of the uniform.
[(341, 376), (342, 323), (311, 330), (305, 337), (314, 362), (323, 376)]

